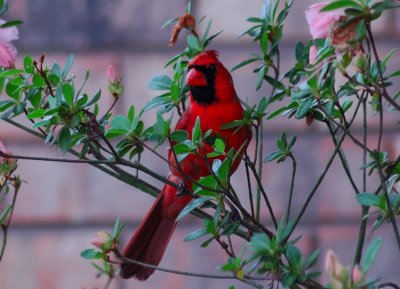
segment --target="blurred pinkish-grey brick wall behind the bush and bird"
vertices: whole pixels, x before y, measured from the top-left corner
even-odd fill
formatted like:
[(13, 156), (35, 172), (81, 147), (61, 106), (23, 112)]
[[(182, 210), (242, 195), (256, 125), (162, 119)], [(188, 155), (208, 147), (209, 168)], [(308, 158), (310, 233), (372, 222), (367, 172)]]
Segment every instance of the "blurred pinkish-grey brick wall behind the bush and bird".
[[(295, 43), (310, 38), (304, 11), (314, 2), (295, 1), (293, 5), (282, 42), (282, 72), (294, 63)], [(44, 53), (49, 66), (53, 61), (63, 64), (68, 53), (74, 53), (73, 74), (82, 79), (85, 70), (90, 70), (86, 91), (90, 95), (98, 88), (102, 89), (103, 111), (112, 102), (105, 71), (110, 64), (119, 67), (125, 95), (117, 103), (114, 113), (126, 113), (131, 104), (139, 109), (156, 95), (147, 87), (152, 76), (170, 74), (164, 64), (181, 51), (186, 33), (180, 35), (176, 47), (168, 48), (171, 27), (163, 30), (160, 27), (169, 18), (181, 15), (186, 3), (184, 0), (13, 0), (9, 1), (7, 16), (24, 21), (20, 27), (20, 40), (14, 42), (19, 50), (19, 64), (27, 53), (35, 58)], [(247, 59), (250, 52), (257, 52), (258, 47), (249, 38), (238, 38), (238, 35), (250, 27), (246, 18), (260, 15), (262, 4), (261, 0), (193, 1), (192, 12), (197, 19), (207, 16), (206, 21), (199, 25), (199, 31), (204, 31), (208, 19), (213, 21), (213, 33), (223, 30), (211, 48), (220, 51), (221, 60), (228, 68)], [(381, 55), (399, 47), (399, 12), (389, 11), (381, 20), (374, 22)], [(393, 67), (398, 69), (400, 58), (395, 56), (392, 60)], [(255, 92), (256, 76), (251, 67), (235, 71), (233, 78), (242, 99), (255, 102), (260, 95), (269, 93), (265, 84), (261, 91)], [(398, 90), (398, 85), (393, 89)], [(0, 96), (0, 100), (3, 97)], [(145, 117), (150, 121), (154, 113), (147, 113)], [(371, 113), (369, 120), (371, 126), (376, 127), (377, 116)], [(400, 135), (395, 126), (397, 121), (398, 113), (392, 113), (385, 122), (384, 149), (392, 158), (400, 153)], [(361, 119), (356, 120), (354, 132), (361, 132), (360, 125)], [(308, 127), (305, 120), (284, 117), (267, 121), (264, 127), (265, 155), (275, 150), (276, 139), (282, 130), (298, 136), (295, 149), (299, 167), (295, 187), (297, 205), (293, 212), (296, 213), (333, 150), (330, 135), (316, 122)], [(376, 130), (372, 128), (369, 140), (374, 142), (376, 138)], [(61, 156), (57, 150), (4, 122), (0, 122), (0, 139), (16, 154)], [(351, 142), (345, 142), (344, 148), (356, 182), (361, 184), (361, 153)], [(166, 153), (166, 148), (159, 151)], [(143, 160), (153, 170), (168, 173), (162, 161), (150, 155), (145, 155)], [(264, 167), (263, 182), (278, 216), (282, 216), (285, 210), (290, 173), (289, 163), (271, 163)], [(89, 261), (80, 257), (80, 252), (91, 246), (90, 240), (96, 232), (111, 231), (117, 217), (121, 217), (126, 224), (123, 234), (125, 243), (154, 199), (88, 165), (19, 161), (19, 174), (26, 183), (15, 209), (5, 259), (0, 263), (1, 288), (104, 288), (106, 278), (96, 278), (96, 270)], [(243, 178), (243, 170), (240, 169), (234, 175), (233, 183), (246, 198)], [(161, 187), (154, 180), (149, 180)], [(377, 182), (372, 177), (368, 189), (373, 190)], [(264, 214), (266, 222), (269, 222), (266, 212)], [(360, 214), (341, 164), (335, 160), (296, 232), (297, 236), (303, 236), (299, 242), (303, 253), (307, 255), (321, 247), (318, 263), (321, 271), (324, 270), (324, 256), (328, 248), (337, 253), (343, 264), (351, 265)], [(186, 234), (200, 225), (201, 222), (192, 216), (178, 225), (161, 266), (214, 273), (215, 268), (225, 262), (224, 253), (216, 245), (202, 249), (199, 248), (201, 240), (182, 241)], [(376, 235), (384, 237), (379, 259), (371, 272), (382, 276), (384, 281), (399, 282), (399, 253), (390, 224), (384, 224), (373, 236), (370, 233), (368, 229), (368, 243)], [(326, 281), (324, 275), (321, 281)], [(231, 284), (246, 288), (233, 281), (189, 278), (163, 272), (156, 272), (142, 283), (116, 279), (110, 288), (200, 289), (228, 288)]]

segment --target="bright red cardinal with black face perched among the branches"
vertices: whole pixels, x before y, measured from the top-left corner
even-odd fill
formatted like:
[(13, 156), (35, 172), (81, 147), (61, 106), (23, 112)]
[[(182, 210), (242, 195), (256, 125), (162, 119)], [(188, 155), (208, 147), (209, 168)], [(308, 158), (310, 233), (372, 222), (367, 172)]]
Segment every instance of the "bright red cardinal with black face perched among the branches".
[[(211, 129), (213, 133), (223, 138), (226, 147), (240, 148), (244, 152), (251, 139), (248, 126), (222, 129), (222, 125), (243, 118), (243, 108), (233, 87), (229, 71), (218, 60), (216, 51), (205, 51), (197, 55), (188, 65), (187, 85), (190, 88), (190, 105), (176, 124), (176, 130), (185, 130), (191, 138), (192, 128), (196, 119), (200, 118), (203, 132)], [(244, 145), (244, 147), (243, 147)], [(213, 148), (204, 143), (205, 152)], [(234, 162), (231, 173), (239, 166), (240, 157)], [(179, 162), (185, 172), (177, 168), (175, 157), (169, 152), (171, 174), (169, 180), (182, 185), (191, 191), (192, 180), (210, 175), (204, 159), (194, 154), (188, 155)], [(212, 161), (212, 159), (211, 159)], [(188, 178), (187, 176), (190, 176)], [(177, 194), (178, 190), (166, 184), (158, 195), (155, 203), (147, 213), (139, 228), (130, 239), (123, 251), (123, 256), (143, 263), (158, 265), (167, 248), (169, 239), (176, 226), (176, 217), (190, 202), (190, 194)], [(152, 268), (126, 263), (121, 265), (122, 278), (135, 277), (146, 280), (154, 272)]]

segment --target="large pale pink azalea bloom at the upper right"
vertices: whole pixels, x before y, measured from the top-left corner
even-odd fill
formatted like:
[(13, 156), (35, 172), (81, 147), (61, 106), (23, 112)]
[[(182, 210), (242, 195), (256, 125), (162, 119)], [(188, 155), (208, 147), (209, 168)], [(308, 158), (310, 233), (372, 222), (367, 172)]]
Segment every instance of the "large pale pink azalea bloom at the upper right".
[(329, 3), (329, 1), (315, 3), (306, 10), (306, 19), (313, 39), (327, 38), (332, 24), (342, 15), (340, 10), (320, 12)]

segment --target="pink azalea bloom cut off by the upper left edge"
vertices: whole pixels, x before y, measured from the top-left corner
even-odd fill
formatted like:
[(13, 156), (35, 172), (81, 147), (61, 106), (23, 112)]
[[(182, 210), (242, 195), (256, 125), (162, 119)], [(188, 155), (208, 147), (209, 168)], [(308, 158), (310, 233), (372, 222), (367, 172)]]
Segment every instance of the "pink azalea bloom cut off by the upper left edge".
[[(6, 23), (0, 19), (0, 25)], [(0, 28), (0, 67), (12, 68), (17, 58), (17, 49), (11, 41), (18, 39), (18, 28), (15, 26)]]

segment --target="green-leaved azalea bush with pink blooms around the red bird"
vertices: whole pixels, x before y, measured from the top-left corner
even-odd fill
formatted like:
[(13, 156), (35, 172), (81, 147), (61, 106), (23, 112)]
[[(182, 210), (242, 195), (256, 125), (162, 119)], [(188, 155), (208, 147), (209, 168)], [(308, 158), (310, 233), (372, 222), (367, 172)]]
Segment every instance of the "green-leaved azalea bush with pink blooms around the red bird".
[[(6, 11), (6, 4), (1, 2)], [(242, 163), (246, 169), (247, 189), (237, 192), (230, 185), (229, 162), (213, 163), (210, 176), (200, 178), (193, 187), (194, 199), (182, 211), (178, 219), (192, 213), (203, 220), (203, 225), (184, 238), (192, 241), (201, 238), (201, 246), (215, 242), (226, 253), (221, 260), (216, 275), (201, 272), (182, 272), (170, 268), (157, 267), (171, 274), (195, 275), (203, 278), (236, 279), (255, 288), (277, 286), (280, 283), (290, 288), (323, 288), (316, 269), (319, 249), (305, 255), (298, 247), (297, 230), (305, 212), (318, 194), (318, 189), (331, 168), (334, 159), (340, 160), (354, 194), (360, 205), (360, 228), (358, 244), (354, 251), (354, 262), (343, 266), (339, 257), (329, 251), (326, 256), (326, 272), (331, 288), (380, 288), (397, 285), (390, 280), (380, 280), (370, 276), (382, 244), (382, 226), (392, 228), (397, 248), (400, 252), (400, 234), (397, 216), (400, 212), (400, 197), (396, 189), (400, 181), (400, 156), (384, 151), (383, 122), (388, 114), (399, 115), (400, 92), (389, 92), (389, 87), (400, 75), (400, 70), (389, 72), (387, 67), (396, 49), (382, 55), (376, 47), (373, 26), (375, 21), (389, 9), (398, 8), (393, 1), (338, 0), (316, 3), (305, 11), (310, 26), (311, 39), (298, 42), (295, 46), (296, 60), (292, 68), (282, 71), (280, 67), (280, 43), (285, 20), (290, 17), (293, 1), (265, 1), (259, 17), (249, 15), (247, 31), (242, 37), (257, 44), (251, 56), (243, 55), (243, 60), (232, 70), (251, 65), (257, 75), (254, 90), (271, 87), (269, 95), (260, 97), (255, 105), (243, 102), (243, 119), (226, 124), (226, 128), (249, 125), (253, 130), (255, 150), (247, 151)], [(173, 15), (178, 16), (178, 15)], [(99, 103), (102, 93), (93, 95), (85, 92), (85, 83), (70, 75), (73, 56), (64, 66), (49, 65), (43, 55), (34, 59), (30, 55), (23, 58), (23, 66), (15, 67), (16, 50), (10, 43), (18, 36), (15, 25), (20, 21), (2, 22), (0, 29), (0, 97), (1, 121), (22, 129), (26, 133), (42, 139), (52, 147), (72, 158), (45, 159), (46, 161), (87, 163), (95, 168), (129, 184), (144, 193), (156, 196), (160, 188), (145, 181), (132, 169), (141, 171), (159, 181), (168, 179), (148, 168), (146, 159), (141, 158), (149, 151), (161, 161), (167, 159), (158, 147), (171, 144), (177, 159), (196, 153), (199, 146), (211, 132), (202, 132), (200, 124), (194, 127), (191, 139), (182, 131), (173, 131), (175, 114), (181, 115), (188, 103), (188, 87), (185, 83), (188, 62), (200, 52), (213, 47), (218, 34), (211, 34), (211, 21), (196, 22), (190, 14), (190, 4), (182, 16), (171, 19), (174, 25), (170, 49), (179, 41), (182, 30), (188, 30), (186, 47), (176, 56), (166, 60), (168, 74), (155, 76), (149, 81), (149, 88), (160, 94), (144, 107), (132, 104), (126, 115), (114, 115), (111, 111), (121, 97), (124, 97), (123, 83), (127, 79), (115, 67), (109, 67), (109, 95), (112, 105), (101, 113)], [(200, 33), (199, 25), (203, 25)], [(168, 26), (170, 27), (170, 26)], [(162, 68), (160, 68), (161, 70)], [(251, 92), (248, 93), (251, 95)], [(272, 107), (274, 107), (272, 109)], [(146, 125), (143, 112), (154, 113), (154, 123)], [(368, 139), (371, 115), (378, 118), (379, 137), (375, 142)], [(296, 135), (282, 132), (276, 140), (276, 150), (264, 156), (264, 125), (276, 118), (291, 118), (308, 125), (319, 122), (331, 136), (334, 149), (328, 156), (324, 169), (317, 181), (309, 188), (304, 203), (297, 214), (293, 213), (293, 194), (296, 192), (296, 171), (301, 169), (293, 148), (297, 145)], [(362, 132), (354, 134), (352, 128), (356, 118), (362, 119)], [(22, 120), (31, 122), (25, 125)], [(201, 120), (199, 120), (201, 122)], [(398, 126), (398, 118), (395, 120)], [(345, 140), (352, 141), (362, 154), (357, 164), (361, 171), (349, 167), (348, 152), (343, 147)], [(3, 140), (7, 142), (7, 140)], [(175, 145), (173, 145), (175, 144)], [(210, 157), (226, 155), (233, 158), (235, 152), (227, 151), (223, 140), (211, 140), (214, 151)], [(2, 253), (6, 241), (17, 192), (21, 181), (17, 175), (17, 159), (44, 160), (38, 156), (13, 154), (0, 143), (0, 201), (2, 206), (0, 224), (3, 230)], [(270, 203), (270, 194), (262, 182), (262, 169), (279, 163), (291, 164), (289, 196), (286, 212), (277, 216)], [(362, 175), (362, 184), (357, 184), (355, 176)], [(375, 190), (367, 191), (367, 179), (377, 176)], [(222, 192), (222, 193), (221, 193)], [(243, 206), (244, 200), (248, 207)], [(268, 211), (268, 222), (261, 218), (261, 212)], [(371, 214), (373, 212), (373, 214)], [(366, 245), (367, 224), (371, 221), (371, 241)], [(271, 225), (270, 225), (271, 224)], [(118, 265), (123, 262), (135, 263), (120, 254), (119, 239), (123, 225), (117, 220), (112, 233), (100, 232), (93, 241), (94, 248), (82, 252), (86, 259), (98, 261), (94, 266), (100, 273), (115, 278)], [(240, 247), (233, 245), (232, 239), (240, 240)], [(235, 242), (237, 244), (238, 242)], [(200, 249), (199, 250), (207, 250)], [(146, 264), (142, 264), (146, 266)], [(151, 266), (151, 265), (149, 265)], [(175, 269), (175, 268), (174, 268)], [(229, 284), (227, 284), (227, 287)]]

